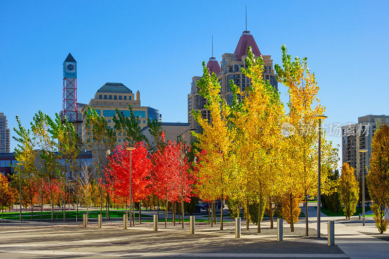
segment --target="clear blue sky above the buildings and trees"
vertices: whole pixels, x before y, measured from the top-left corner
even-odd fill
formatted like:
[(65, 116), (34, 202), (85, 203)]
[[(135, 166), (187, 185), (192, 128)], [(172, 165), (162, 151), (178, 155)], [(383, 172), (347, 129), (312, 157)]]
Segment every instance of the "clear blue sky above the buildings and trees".
[[(327, 123), (388, 111), (387, 1), (0, 1), (0, 112), (9, 127), (62, 108), (62, 63), (77, 60), (78, 102), (106, 82), (141, 92), (162, 121), (187, 122), (201, 62), (233, 53), (248, 30), (264, 55), (306, 56)], [(279, 85), (286, 101), (285, 87)], [(11, 135), (14, 131), (11, 130)], [(340, 137), (329, 137), (341, 143)], [(15, 147), (11, 141), (11, 149)]]

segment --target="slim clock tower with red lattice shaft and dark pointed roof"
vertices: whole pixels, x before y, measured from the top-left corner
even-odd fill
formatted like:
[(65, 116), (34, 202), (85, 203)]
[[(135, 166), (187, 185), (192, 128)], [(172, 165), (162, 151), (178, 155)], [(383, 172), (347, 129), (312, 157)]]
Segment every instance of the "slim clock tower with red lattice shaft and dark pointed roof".
[[(72, 124), (77, 123), (77, 62), (69, 53), (63, 63), (63, 116)], [(76, 125), (74, 125), (76, 126)], [(77, 127), (74, 127), (77, 129)]]

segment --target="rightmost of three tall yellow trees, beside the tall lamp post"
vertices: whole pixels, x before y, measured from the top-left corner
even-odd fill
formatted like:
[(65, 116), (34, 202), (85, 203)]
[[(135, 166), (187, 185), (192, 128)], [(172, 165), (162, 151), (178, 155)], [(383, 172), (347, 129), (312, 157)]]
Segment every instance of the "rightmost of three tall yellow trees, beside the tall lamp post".
[[(318, 121), (313, 119), (313, 116), (323, 114), (325, 108), (320, 105), (317, 98), (319, 87), (315, 74), (308, 68), (307, 58), (295, 57), (292, 61), (285, 45), (282, 47), (282, 52), (283, 68), (276, 64), (275, 69), (280, 82), (288, 88), (289, 113), (286, 120), (294, 129), (293, 134), (285, 138), (287, 142), (285, 154), (288, 155), (288, 158), (286, 159), (287, 168), (284, 171), (285, 195), (283, 200), (284, 207), (287, 207), (285, 210), (290, 213), (289, 219), (286, 218), (286, 221), (291, 224), (291, 231), (293, 231), (293, 223), (298, 220), (296, 214), (300, 214), (298, 204), (301, 197), (305, 198), (306, 204), (307, 196), (316, 194), (318, 185)], [(324, 136), (323, 134), (322, 141)], [(331, 152), (331, 143), (329, 144), (325, 146), (328, 151), (321, 152), (322, 154)], [(332, 156), (328, 157), (328, 159), (331, 158)], [(331, 164), (335, 169), (336, 161), (337, 159), (333, 161), (334, 163), (328, 164)], [(321, 175), (321, 182), (327, 182), (326, 172), (328, 171)], [(291, 209), (293, 207), (298, 208)], [(305, 206), (305, 226), (306, 235), (308, 235), (307, 206)]]

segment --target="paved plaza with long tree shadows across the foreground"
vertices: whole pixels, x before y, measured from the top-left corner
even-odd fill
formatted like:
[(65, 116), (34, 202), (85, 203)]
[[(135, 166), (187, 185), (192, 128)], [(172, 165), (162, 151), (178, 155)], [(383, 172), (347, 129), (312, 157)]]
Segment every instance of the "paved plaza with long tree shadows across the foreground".
[[(316, 228), (316, 209), (308, 205), (309, 227)], [(339, 221), (339, 220), (342, 221)], [(326, 238), (328, 220), (336, 220), (336, 246), (328, 246)], [(242, 238), (232, 234), (234, 224), (226, 223), (227, 231), (220, 232), (219, 224), (211, 228), (196, 223), (194, 235), (185, 229), (159, 223), (159, 231), (152, 231), (151, 223), (123, 229), (122, 222), (104, 222), (97, 228), (94, 222), (87, 228), (80, 223), (4, 223), (0, 224), (0, 258), (389, 258), (389, 242), (363, 233), (377, 233), (374, 224), (362, 227), (360, 222), (347, 224), (344, 218), (323, 214), (322, 239), (285, 236), (277, 242), (272, 233), (245, 234), (242, 222)], [(171, 225), (172, 223), (170, 223)], [(270, 223), (262, 223), (269, 228)], [(251, 225), (255, 228), (255, 225)], [(276, 227), (276, 223), (275, 223)], [(284, 228), (288, 228), (284, 224)], [(305, 227), (300, 220), (296, 228)], [(264, 231), (266, 232), (266, 231)]]

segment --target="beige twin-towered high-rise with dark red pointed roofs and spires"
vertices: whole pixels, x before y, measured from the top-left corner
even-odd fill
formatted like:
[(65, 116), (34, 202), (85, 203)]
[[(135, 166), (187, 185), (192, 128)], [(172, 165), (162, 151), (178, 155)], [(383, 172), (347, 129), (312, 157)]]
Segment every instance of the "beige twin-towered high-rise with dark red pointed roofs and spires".
[[(222, 55), (222, 61), (220, 62), (221, 66), (219, 66), (214, 57), (211, 57), (207, 63), (208, 70), (214, 72), (218, 76), (218, 81), (221, 86), (221, 97), (226, 100), (229, 105), (232, 105), (233, 99), (230, 80), (233, 80), (235, 85), (239, 86), (242, 92), (251, 84), (250, 79), (246, 78), (240, 70), (241, 68), (247, 68), (246, 58), (248, 47), (251, 47), (255, 56), (262, 56), (264, 59), (263, 77), (265, 80), (269, 80), (270, 85), (274, 86), (275, 90), (278, 90), (277, 75), (274, 73), (271, 56), (262, 55), (254, 37), (249, 31), (244, 31), (238, 41), (235, 52), (224, 53)], [(192, 111), (200, 111), (204, 119), (211, 121), (211, 111), (204, 107), (204, 105), (207, 104), (207, 100), (198, 94), (196, 82), (200, 78), (201, 77), (199, 76), (194, 76), (192, 78), (191, 92), (188, 94), (188, 122), (190, 123), (191, 128), (195, 129), (197, 133), (201, 132), (201, 127), (195, 121)]]

